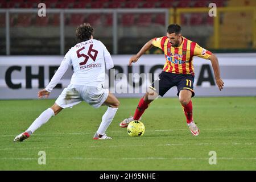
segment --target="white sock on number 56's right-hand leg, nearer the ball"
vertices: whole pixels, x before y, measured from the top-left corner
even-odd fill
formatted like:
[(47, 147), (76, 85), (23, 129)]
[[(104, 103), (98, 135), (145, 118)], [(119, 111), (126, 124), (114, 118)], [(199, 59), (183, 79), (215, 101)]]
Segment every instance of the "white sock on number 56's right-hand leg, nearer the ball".
[(108, 129), (110, 123), (112, 122), (115, 113), (117, 113), (117, 109), (118, 108), (108, 107), (108, 110), (106, 110), (106, 113), (102, 116), (102, 122), (100, 127), (98, 127), (97, 134), (103, 135), (105, 133), (106, 129)]

